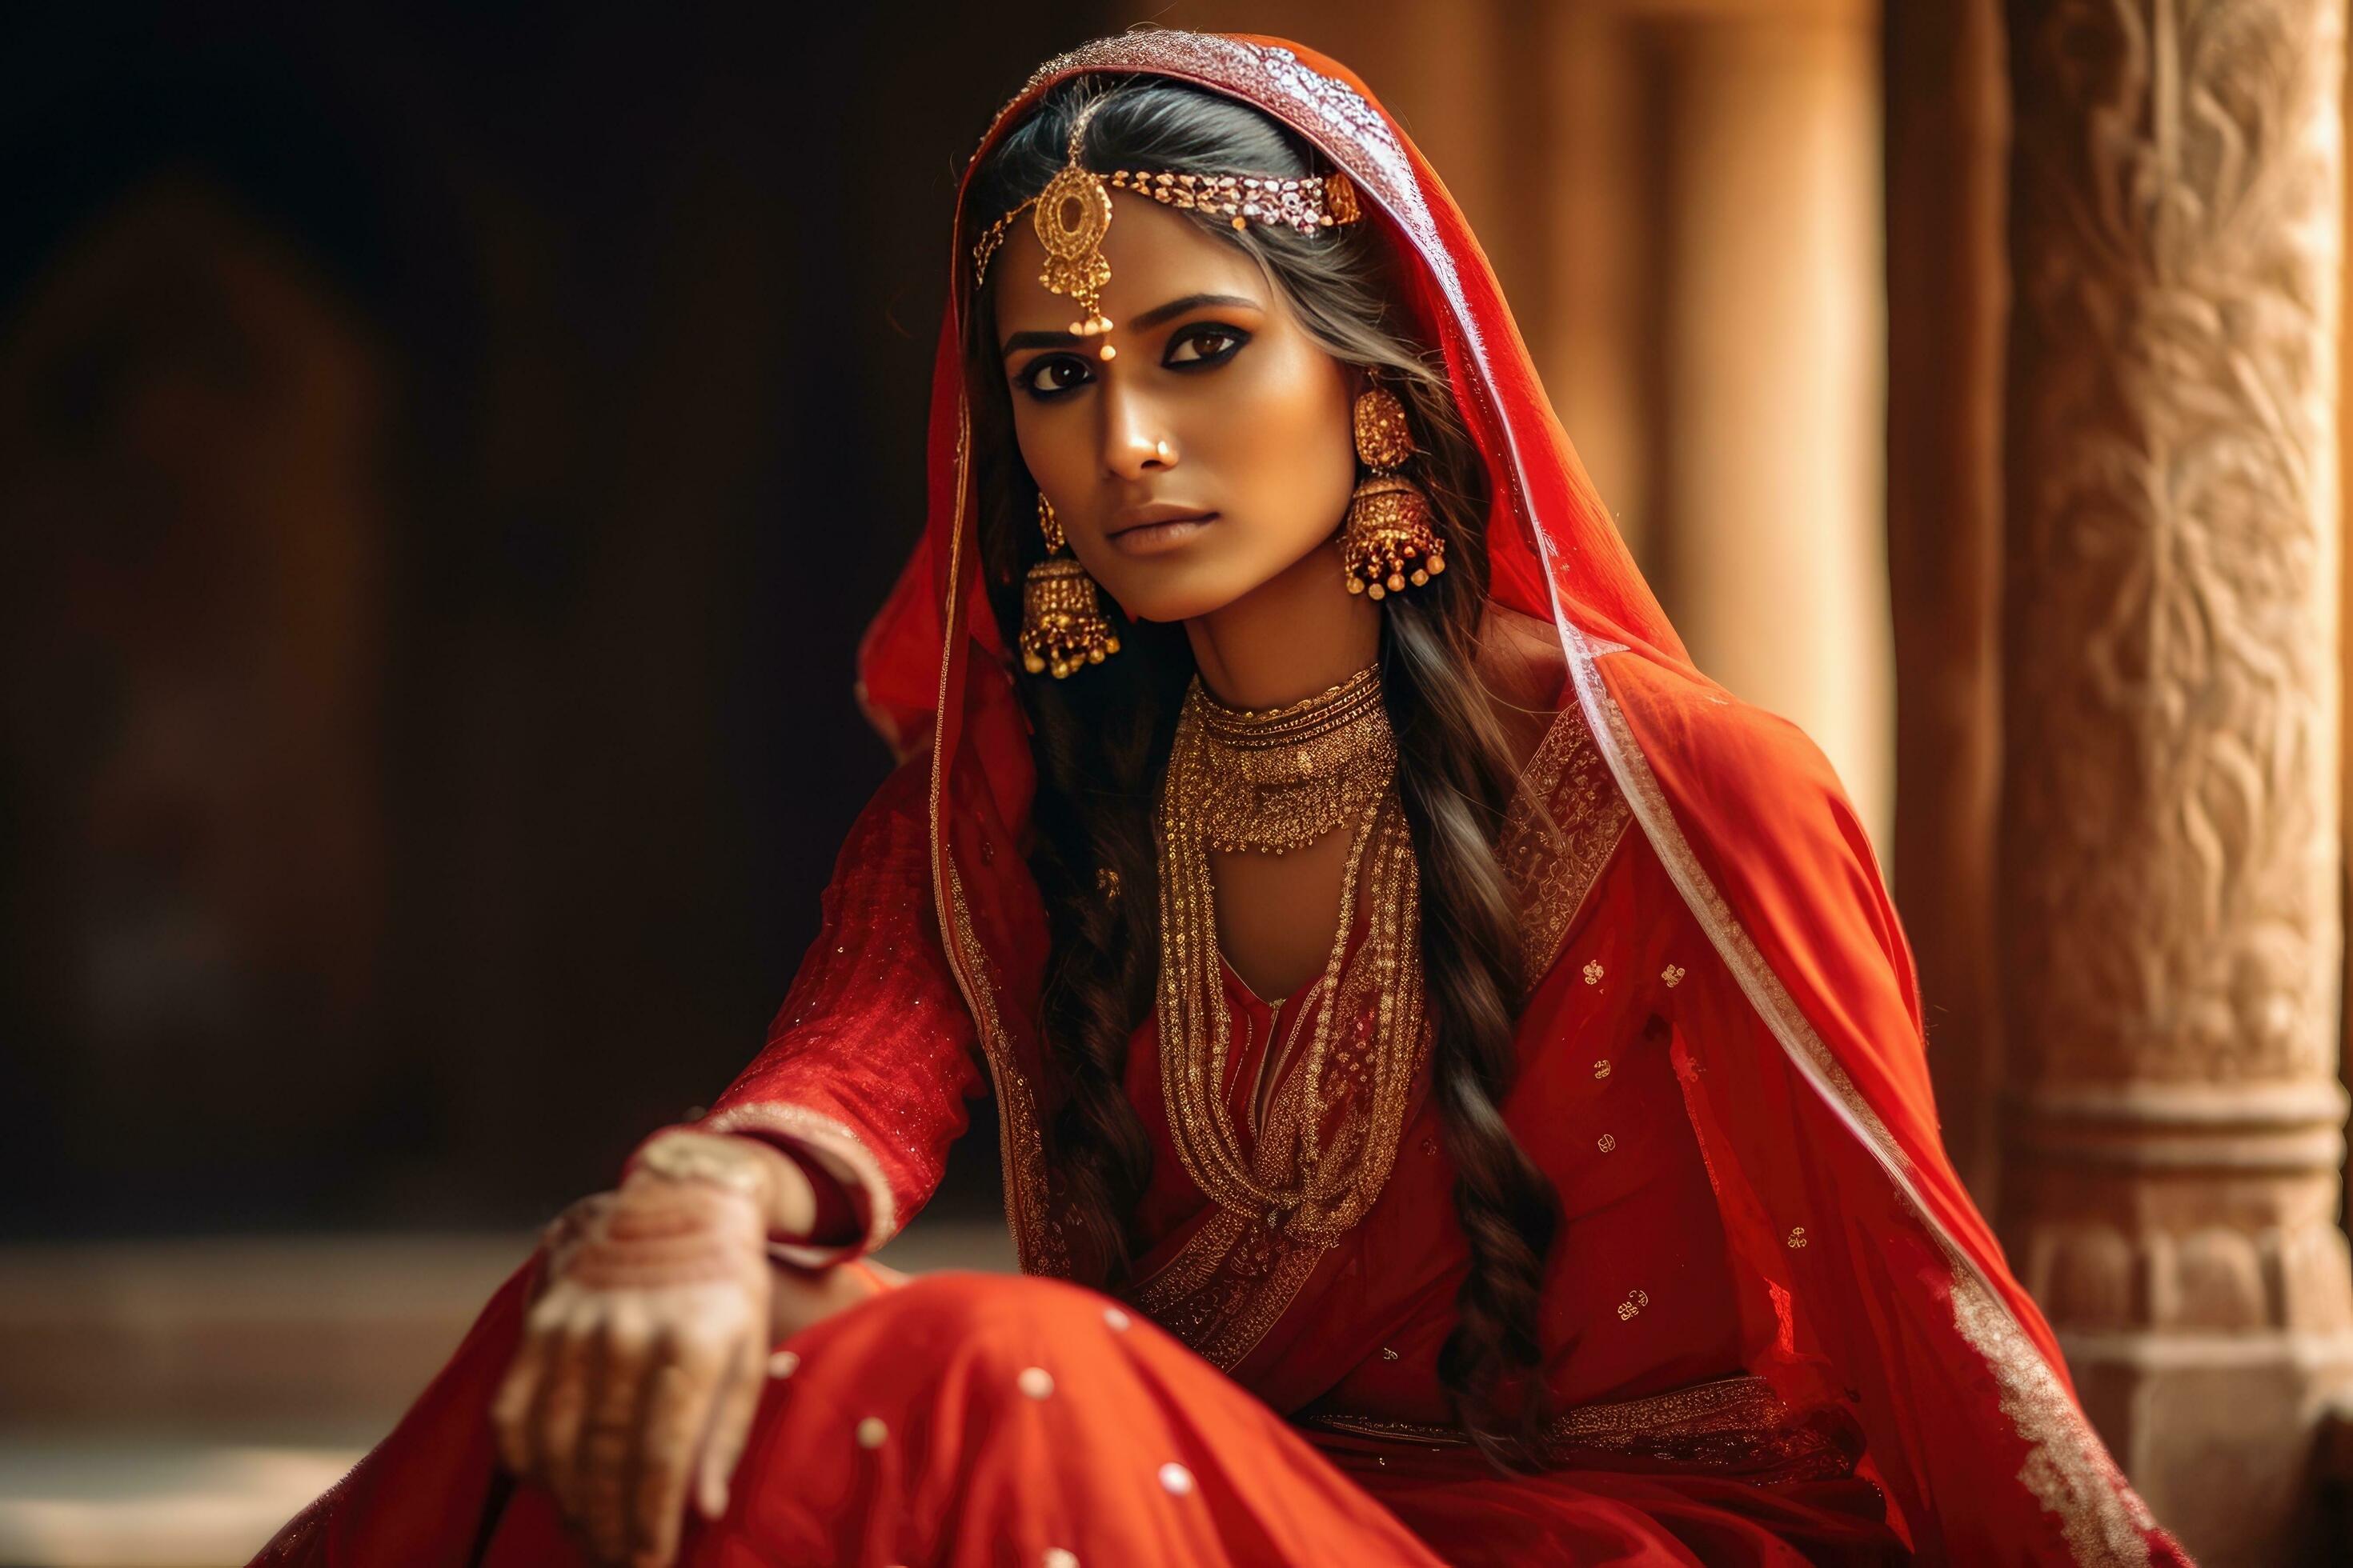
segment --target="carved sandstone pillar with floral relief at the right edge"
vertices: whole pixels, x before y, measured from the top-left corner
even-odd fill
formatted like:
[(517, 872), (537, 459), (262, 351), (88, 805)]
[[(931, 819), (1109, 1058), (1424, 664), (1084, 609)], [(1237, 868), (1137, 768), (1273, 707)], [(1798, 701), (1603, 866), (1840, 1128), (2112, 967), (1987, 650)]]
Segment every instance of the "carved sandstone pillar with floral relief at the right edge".
[(2337, 1227), (2344, 0), (2012, 0), (2002, 1229), (2207, 1563), (2294, 1561)]

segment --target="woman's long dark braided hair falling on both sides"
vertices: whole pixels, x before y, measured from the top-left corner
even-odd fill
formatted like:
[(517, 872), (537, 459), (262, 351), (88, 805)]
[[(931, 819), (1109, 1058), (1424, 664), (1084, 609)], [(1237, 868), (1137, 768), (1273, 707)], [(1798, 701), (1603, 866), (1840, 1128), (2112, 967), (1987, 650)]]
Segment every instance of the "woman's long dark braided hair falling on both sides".
[[(1073, 78), (1049, 89), (974, 172), (981, 223), (1024, 202), (1064, 165), (1071, 122), (1104, 96), (1082, 160), (1108, 169), (1308, 174), (1308, 148), (1268, 115), (1162, 78)], [(1457, 1326), (1438, 1375), (1464, 1432), (1501, 1469), (1534, 1460), (1541, 1420), (1537, 1295), (1558, 1229), (1558, 1194), (1497, 1110), (1513, 1079), (1522, 957), (1497, 837), (1513, 788), (1511, 748), (1475, 677), (1487, 599), (1487, 470), (1442, 369), (1400, 331), (1395, 259), (1369, 223), (1315, 240), (1198, 219), (1249, 252), (1325, 353), (1381, 371), (1421, 447), (1417, 477), (1440, 512), (1447, 571), (1384, 599), (1381, 684), (1398, 733), (1398, 792), (1421, 872), (1421, 961), (1435, 1044), (1431, 1084), (1459, 1171), (1454, 1213), (1471, 1244)], [(1000, 268), (1002, 270), (1002, 268)], [(1038, 484), (1012, 433), (1012, 395), (984, 292), (965, 343), (974, 388), (979, 534), (1007, 646), (1021, 623), (1021, 576), (1045, 555)], [(1337, 520), (1334, 520), (1337, 524)], [(1334, 574), (1334, 592), (1339, 581)], [(1118, 609), (1106, 609), (1118, 621)], [(1153, 1006), (1160, 964), (1153, 802), (1193, 675), (1181, 625), (1118, 623), (1122, 651), (1071, 679), (1019, 677), (1035, 726), (1038, 825), (1031, 867), (1052, 926), (1040, 1032), (1066, 1095), (1047, 1128), (1071, 1206), (1073, 1267), (1118, 1286), (1134, 1260), (1129, 1218), (1151, 1178), (1151, 1145), (1127, 1103), (1127, 1041)], [(1099, 872), (1118, 875), (1118, 898)]]

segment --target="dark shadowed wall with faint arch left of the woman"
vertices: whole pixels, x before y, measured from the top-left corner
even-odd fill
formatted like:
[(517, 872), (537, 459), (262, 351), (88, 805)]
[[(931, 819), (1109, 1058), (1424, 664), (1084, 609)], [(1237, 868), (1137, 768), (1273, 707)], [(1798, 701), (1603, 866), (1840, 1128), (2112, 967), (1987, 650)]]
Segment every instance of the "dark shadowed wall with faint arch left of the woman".
[(955, 174), (1101, 31), (847, 9), (7, 24), (0, 1237), (532, 1222), (758, 1048)]

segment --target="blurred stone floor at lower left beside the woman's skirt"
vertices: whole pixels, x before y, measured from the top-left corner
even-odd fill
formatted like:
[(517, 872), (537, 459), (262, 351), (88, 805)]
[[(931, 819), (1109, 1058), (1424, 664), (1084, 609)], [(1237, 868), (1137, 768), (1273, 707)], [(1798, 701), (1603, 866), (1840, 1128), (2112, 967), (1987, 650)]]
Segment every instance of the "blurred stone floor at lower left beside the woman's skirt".
[[(529, 1237), (0, 1248), (0, 1566), (245, 1563), (374, 1443)], [(1012, 1269), (918, 1218), (911, 1274)]]

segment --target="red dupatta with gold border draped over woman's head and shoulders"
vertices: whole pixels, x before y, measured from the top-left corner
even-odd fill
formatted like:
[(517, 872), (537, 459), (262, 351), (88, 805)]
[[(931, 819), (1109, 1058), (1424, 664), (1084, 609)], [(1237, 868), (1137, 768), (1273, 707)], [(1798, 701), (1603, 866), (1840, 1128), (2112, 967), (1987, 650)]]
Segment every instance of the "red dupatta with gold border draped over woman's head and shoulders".
[[(1753, 1006), (1753, 1027), (1694, 1041), (1678, 1072), (1762, 1302), (1744, 1307), (1755, 1371), (1802, 1401), (1854, 1401), (1927, 1561), (2186, 1561), (2085, 1420), (2049, 1326), (1946, 1159), (1911, 950), (1835, 773), (1793, 724), (1692, 668), (1428, 162), (1313, 49), (1136, 31), (1047, 61), (974, 165), (1042, 89), (1089, 71), (1181, 78), (1282, 120), (1414, 261), (1407, 306), (1489, 465), (1489, 592), (1558, 628), (1635, 823)], [(1024, 837), (1033, 771), (979, 581), (960, 348), (972, 268), (951, 252), (929, 512), (859, 649), (859, 698), (904, 757), (932, 752), (932, 891), (998, 1086), (1007, 1218), (1024, 1269), (1068, 1274), (1040, 1140), (1054, 1110), (1033, 1030), (1045, 912), (1021, 853), (1000, 853)]]

